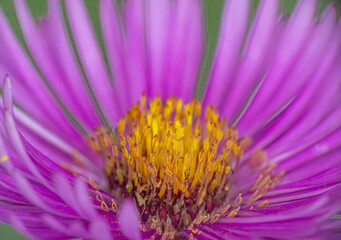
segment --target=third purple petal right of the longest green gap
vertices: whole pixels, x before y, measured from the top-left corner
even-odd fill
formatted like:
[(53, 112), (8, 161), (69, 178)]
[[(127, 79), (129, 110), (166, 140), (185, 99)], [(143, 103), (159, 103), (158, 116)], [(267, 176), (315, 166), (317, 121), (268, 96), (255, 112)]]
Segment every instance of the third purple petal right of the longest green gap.
[(315, 0), (300, 1), (296, 7), (271, 62), (269, 73), (252, 105), (238, 124), (238, 128), (243, 134), (250, 134), (252, 130), (250, 127), (254, 126), (254, 121), (258, 119), (259, 113), (267, 109), (269, 98), (275, 94), (274, 91), (280, 87), (282, 80), (297, 63), (297, 59), (305, 49), (307, 39), (311, 36), (315, 8)]

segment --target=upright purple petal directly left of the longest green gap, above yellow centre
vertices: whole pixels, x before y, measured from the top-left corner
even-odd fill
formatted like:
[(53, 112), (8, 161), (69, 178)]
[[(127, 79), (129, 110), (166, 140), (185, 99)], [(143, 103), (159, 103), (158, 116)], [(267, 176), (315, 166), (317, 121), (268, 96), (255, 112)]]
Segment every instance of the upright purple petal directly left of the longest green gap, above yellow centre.
[(172, 34), (168, 40), (166, 96), (191, 101), (203, 56), (203, 9), (196, 0), (176, 1), (172, 11)]

